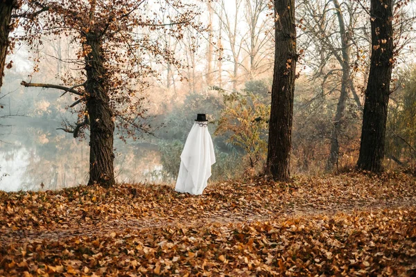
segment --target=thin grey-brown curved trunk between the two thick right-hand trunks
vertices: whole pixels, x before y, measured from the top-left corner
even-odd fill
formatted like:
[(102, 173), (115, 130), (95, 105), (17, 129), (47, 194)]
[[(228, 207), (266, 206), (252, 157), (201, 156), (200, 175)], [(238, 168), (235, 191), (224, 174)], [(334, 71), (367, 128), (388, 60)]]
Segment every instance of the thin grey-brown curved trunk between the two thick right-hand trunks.
[(340, 143), (338, 141), (338, 134), (342, 124), (342, 119), (345, 111), (345, 103), (348, 98), (348, 85), (349, 85), (349, 45), (348, 37), (345, 30), (345, 22), (343, 12), (340, 8), (338, 0), (333, 0), (333, 6), (335, 6), (336, 15), (338, 17), (338, 24), (340, 25), (340, 38), (341, 38), (341, 53), (343, 67), (343, 77), (341, 80), (340, 98), (338, 99), (338, 105), (336, 106), (336, 114), (333, 118), (333, 130), (331, 134), (331, 148), (329, 151), (329, 159), (327, 161), (327, 170), (331, 170), (334, 165), (338, 165), (338, 157), (340, 154)]

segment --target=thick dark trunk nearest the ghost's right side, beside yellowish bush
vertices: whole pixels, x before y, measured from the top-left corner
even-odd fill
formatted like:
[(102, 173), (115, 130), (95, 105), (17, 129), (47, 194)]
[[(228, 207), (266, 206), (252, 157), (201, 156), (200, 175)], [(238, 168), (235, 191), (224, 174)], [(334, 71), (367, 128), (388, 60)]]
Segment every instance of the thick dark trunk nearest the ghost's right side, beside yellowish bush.
[(295, 0), (275, 0), (275, 68), (266, 172), (288, 181), (296, 68)]

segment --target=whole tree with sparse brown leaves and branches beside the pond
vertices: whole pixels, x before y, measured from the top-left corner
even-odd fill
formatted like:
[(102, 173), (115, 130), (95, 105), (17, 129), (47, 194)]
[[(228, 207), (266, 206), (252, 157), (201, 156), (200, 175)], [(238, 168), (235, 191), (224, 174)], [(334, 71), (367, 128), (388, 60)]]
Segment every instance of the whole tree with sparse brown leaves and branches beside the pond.
[[(144, 123), (146, 108), (141, 91), (157, 77), (152, 62), (164, 61), (181, 68), (174, 53), (159, 44), (152, 33), (166, 32), (181, 39), (184, 28), (194, 24), (198, 9), (180, 0), (166, 1), (47, 1), (48, 12), (40, 15), (40, 24), (26, 24), (24, 41), (33, 48), (42, 44), (42, 35), (72, 37), (77, 56), (65, 60), (80, 71), (78, 78), (64, 78), (63, 85), (22, 82), (25, 87), (60, 89), (75, 96), (71, 108), (78, 108), (79, 120), (65, 131), (78, 136), (89, 127), (89, 181), (109, 187), (114, 180), (114, 127), (121, 138), (148, 132)], [(168, 23), (155, 18), (168, 6), (175, 10)], [(35, 67), (35, 70), (37, 68)]]

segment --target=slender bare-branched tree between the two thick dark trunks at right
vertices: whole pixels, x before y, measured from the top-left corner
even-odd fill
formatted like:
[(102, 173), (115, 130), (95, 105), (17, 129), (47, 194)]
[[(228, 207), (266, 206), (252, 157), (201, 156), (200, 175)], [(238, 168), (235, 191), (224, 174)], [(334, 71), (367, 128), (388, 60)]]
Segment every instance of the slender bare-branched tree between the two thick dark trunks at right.
[[(338, 103), (333, 111), (327, 169), (338, 166), (340, 148), (345, 148), (345, 129), (348, 122), (349, 94), (354, 97), (356, 109), (361, 110), (361, 100), (354, 86), (357, 66), (368, 48), (361, 24), (363, 8), (356, 1), (300, 2), (297, 7), (299, 26), (302, 28), (301, 47), (305, 49), (307, 64), (313, 69), (311, 82), (321, 80), (321, 90), (316, 100), (328, 102), (335, 95)], [(364, 29), (365, 30), (365, 29)], [(339, 91), (339, 94), (337, 93)], [(332, 105), (331, 105), (332, 106)], [(332, 112), (332, 111), (331, 111)]]

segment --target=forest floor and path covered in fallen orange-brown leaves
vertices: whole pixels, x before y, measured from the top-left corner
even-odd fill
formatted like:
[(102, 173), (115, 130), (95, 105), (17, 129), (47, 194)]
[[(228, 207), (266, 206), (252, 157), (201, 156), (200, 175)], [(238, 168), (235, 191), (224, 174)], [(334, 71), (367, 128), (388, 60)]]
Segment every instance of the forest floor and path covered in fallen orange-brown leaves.
[(415, 276), (416, 177), (0, 192), (0, 234), (0, 276)]

